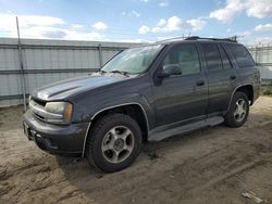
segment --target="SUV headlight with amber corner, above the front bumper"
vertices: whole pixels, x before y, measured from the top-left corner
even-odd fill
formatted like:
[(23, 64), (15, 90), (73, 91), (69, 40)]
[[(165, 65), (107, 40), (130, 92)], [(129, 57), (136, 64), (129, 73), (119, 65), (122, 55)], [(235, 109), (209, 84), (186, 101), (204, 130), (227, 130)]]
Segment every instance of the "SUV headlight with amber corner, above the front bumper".
[[(62, 115), (64, 123), (71, 122), (73, 105), (69, 102), (48, 102), (45, 106), (45, 110), (52, 114)], [(52, 123), (58, 123), (55, 118), (53, 119), (48, 118), (47, 120)]]

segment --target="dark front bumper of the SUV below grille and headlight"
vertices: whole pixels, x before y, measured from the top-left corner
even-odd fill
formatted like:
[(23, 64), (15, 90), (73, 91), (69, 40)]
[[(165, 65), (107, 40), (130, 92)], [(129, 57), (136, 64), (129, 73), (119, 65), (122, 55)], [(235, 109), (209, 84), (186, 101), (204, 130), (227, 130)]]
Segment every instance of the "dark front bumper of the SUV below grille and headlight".
[(29, 140), (51, 154), (77, 156), (83, 153), (88, 123), (52, 125), (39, 120), (28, 110), (23, 116), (24, 132)]

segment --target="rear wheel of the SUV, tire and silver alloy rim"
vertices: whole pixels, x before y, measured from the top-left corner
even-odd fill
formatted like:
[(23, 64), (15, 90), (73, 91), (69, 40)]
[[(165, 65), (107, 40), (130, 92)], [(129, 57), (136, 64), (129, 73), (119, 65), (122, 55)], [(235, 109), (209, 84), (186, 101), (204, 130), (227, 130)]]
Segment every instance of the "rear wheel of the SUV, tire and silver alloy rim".
[(234, 128), (243, 126), (247, 120), (248, 113), (249, 102), (247, 95), (240, 91), (235, 92), (230, 110), (225, 115), (225, 125)]

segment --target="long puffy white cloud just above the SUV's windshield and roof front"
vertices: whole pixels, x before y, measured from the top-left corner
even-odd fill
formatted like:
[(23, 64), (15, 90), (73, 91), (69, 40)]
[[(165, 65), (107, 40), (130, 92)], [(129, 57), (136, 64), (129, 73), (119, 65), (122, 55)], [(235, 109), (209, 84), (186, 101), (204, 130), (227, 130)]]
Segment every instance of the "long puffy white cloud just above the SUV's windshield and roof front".
[(141, 26), (139, 34), (151, 33), (172, 33), (182, 29), (188, 30), (201, 30), (206, 25), (206, 22), (201, 18), (182, 21), (177, 16), (169, 17), (168, 20), (161, 18), (154, 27)]

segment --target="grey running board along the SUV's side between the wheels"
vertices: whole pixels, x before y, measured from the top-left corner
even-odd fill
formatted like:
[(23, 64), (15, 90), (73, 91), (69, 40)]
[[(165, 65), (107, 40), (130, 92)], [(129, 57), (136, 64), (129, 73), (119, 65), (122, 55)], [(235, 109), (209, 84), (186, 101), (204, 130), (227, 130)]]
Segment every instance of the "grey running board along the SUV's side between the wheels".
[(196, 130), (199, 128), (209, 127), (209, 126), (212, 127), (212, 126), (222, 124), (223, 122), (224, 122), (224, 118), (222, 116), (210, 117), (210, 118), (195, 122), (188, 125), (178, 126), (172, 129), (153, 132), (149, 136), (148, 141), (160, 141), (169, 137), (185, 133), (185, 132)]

